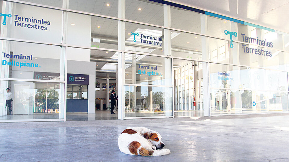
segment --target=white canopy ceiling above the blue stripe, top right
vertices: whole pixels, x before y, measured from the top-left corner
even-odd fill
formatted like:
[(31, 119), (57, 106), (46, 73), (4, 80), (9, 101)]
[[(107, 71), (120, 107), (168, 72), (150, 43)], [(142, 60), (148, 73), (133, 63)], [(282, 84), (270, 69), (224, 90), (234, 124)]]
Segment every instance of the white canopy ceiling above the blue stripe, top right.
[(289, 33), (288, 0), (167, 0)]

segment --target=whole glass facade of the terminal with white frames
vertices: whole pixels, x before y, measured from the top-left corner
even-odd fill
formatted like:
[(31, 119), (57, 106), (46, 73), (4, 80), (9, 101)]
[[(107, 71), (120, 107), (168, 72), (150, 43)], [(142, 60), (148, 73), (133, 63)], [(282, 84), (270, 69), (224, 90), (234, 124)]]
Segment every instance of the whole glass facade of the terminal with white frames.
[(289, 34), (153, 1), (0, 3), (1, 121), (95, 113), (112, 89), (118, 119), (288, 112)]

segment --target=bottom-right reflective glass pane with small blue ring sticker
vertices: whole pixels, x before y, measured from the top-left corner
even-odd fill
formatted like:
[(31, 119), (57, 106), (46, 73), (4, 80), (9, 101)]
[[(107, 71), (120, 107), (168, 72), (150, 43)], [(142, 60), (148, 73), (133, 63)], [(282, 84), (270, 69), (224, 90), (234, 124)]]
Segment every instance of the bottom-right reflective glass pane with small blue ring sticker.
[(288, 92), (211, 90), (212, 115), (288, 112)]

